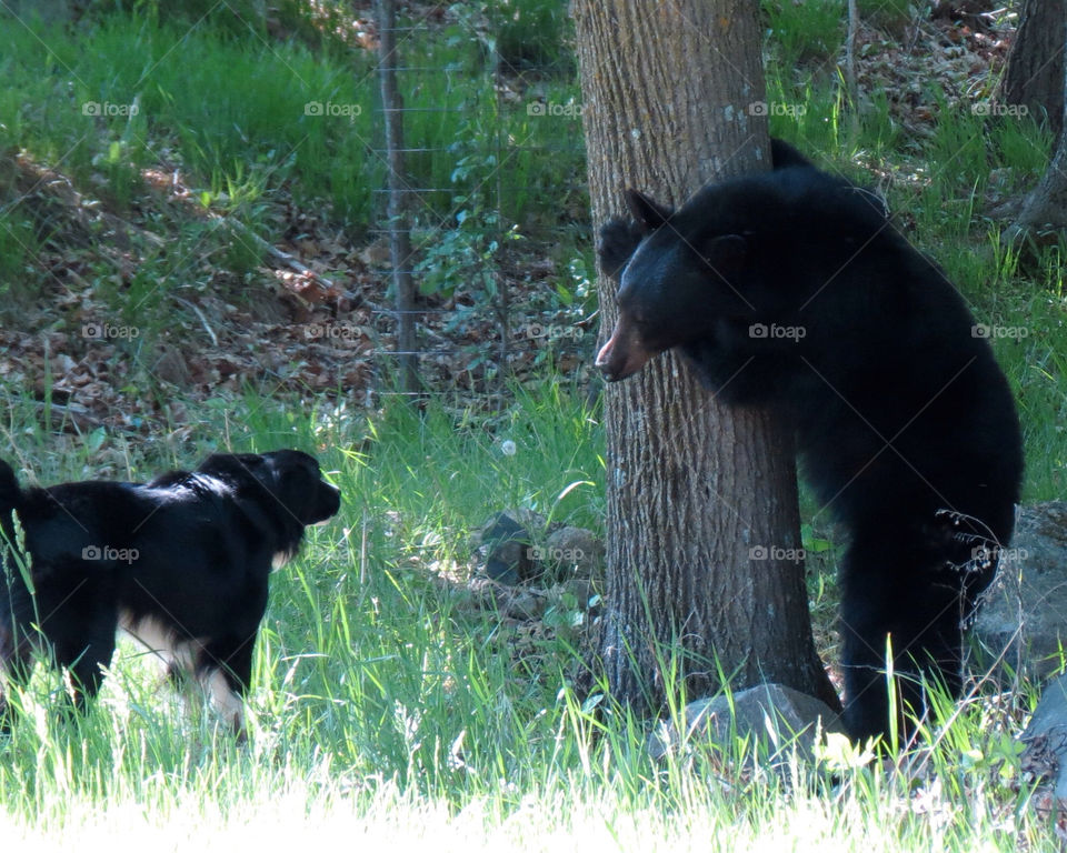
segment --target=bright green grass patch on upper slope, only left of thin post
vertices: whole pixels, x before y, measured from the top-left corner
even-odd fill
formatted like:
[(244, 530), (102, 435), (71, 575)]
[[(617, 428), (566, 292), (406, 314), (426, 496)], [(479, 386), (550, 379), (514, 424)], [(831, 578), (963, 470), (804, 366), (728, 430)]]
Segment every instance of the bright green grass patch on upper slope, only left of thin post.
[(77, 40), (4, 27), (0, 56), (12, 70), (14, 93), (0, 97), (10, 141), (78, 181), (102, 173), (119, 203), (136, 170), (174, 148), (193, 183), (239, 180), (250, 163), (265, 188), (298, 178), (298, 199), (329, 198), (341, 218), (369, 214), (382, 174), (363, 157), (376, 133), (370, 57), (357, 54), (353, 72), (298, 44), (122, 16)]

